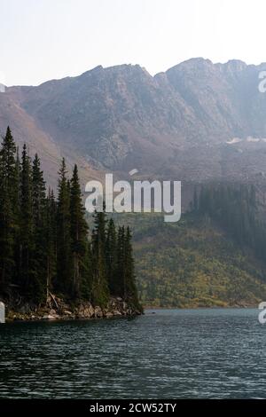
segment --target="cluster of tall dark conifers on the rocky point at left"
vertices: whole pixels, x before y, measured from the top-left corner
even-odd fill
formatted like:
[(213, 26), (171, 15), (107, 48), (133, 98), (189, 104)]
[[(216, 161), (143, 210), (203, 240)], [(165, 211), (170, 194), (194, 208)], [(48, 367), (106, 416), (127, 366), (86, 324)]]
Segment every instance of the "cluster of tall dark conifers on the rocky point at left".
[(7, 128), (0, 149), (0, 295), (45, 303), (50, 293), (105, 306), (111, 295), (138, 306), (131, 232), (94, 214), (89, 232), (78, 169), (59, 169), (57, 198), (41, 162)]

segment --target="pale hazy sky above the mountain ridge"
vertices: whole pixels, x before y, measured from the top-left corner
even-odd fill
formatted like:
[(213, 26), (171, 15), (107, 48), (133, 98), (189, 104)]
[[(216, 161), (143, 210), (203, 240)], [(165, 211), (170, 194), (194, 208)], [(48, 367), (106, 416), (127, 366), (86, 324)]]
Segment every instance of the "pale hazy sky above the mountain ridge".
[(266, 61), (265, 0), (0, 0), (0, 82), (38, 84), (99, 64), (151, 74), (184, 59)]

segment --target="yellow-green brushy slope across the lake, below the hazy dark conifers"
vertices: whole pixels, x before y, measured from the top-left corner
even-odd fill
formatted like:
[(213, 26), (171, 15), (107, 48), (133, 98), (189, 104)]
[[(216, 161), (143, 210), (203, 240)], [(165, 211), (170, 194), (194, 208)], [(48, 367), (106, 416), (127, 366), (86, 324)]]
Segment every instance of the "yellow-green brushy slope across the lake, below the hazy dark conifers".
[(257, 306), (266, 297), (265, 265), (210, 219), (131, 215), (138, 289), (145, 305)]

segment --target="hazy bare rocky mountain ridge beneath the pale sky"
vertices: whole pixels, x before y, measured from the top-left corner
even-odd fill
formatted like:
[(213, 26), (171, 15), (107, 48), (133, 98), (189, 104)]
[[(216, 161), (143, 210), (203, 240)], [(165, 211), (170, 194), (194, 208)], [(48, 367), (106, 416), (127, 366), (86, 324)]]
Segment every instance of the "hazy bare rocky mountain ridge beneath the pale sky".
[(265, 69), (208, 59), (154, 77), (139, 66), (96, 67), (38, 87), (7, 88), (0, 130), (10, 124), (15, 138), (43, 155), (52, 184), (62, 153), (82, 166), (84, 180), (137, 168), (187, 182), (257, 181), (265, 174), (266, 94), (258, 89)]

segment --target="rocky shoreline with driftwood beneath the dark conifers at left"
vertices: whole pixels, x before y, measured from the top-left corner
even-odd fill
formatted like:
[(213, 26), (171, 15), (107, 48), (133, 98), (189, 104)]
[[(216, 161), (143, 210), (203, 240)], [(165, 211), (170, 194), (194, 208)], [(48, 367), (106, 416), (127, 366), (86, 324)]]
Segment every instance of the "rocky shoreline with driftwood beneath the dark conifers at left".
[(52, 296), (44, 306), (29, 303), (6, 303), (6, 321), (71, 320), (71, 319), (111, 319), (114, 317), (133, 317), (143, 312), (123, 301), (120, 297), (111, 298), (106, 308), (91, 303), (70, 304)]

